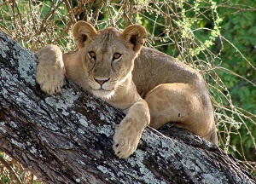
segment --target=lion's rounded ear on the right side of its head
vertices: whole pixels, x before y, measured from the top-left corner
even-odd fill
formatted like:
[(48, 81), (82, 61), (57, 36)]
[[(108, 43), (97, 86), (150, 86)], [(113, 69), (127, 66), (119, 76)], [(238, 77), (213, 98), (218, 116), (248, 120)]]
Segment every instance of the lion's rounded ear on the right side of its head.
[(143, 26), (131, 25), (125, 28), (121, 37), (125, 39), (125, 42), (131, 43), (132, 49), (138, 52), (143, 46), (144, 38), (147, 37), (147, 31)]

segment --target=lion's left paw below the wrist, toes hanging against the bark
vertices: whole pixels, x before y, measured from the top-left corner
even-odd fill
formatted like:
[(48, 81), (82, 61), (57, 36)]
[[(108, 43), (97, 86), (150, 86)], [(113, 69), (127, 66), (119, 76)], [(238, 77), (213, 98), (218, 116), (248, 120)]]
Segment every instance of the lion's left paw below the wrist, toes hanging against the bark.
[(64, 82), (64, 67), (50, 66), (38, 64), (37, 67), (37, 82), (40, 84), (41, 89), (49, 94), (61, 92), (61, 87)]

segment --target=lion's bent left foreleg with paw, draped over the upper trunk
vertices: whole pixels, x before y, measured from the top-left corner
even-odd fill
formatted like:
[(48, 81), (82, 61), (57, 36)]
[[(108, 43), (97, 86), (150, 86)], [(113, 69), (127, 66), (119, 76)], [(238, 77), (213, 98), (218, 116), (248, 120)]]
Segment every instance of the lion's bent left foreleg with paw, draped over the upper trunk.
[(36, 55), (38, 56), (36, 78), (41, 89), (49, 95), (60, 92), (65, 78), (61, 49), (55, 45), (47, 45)]

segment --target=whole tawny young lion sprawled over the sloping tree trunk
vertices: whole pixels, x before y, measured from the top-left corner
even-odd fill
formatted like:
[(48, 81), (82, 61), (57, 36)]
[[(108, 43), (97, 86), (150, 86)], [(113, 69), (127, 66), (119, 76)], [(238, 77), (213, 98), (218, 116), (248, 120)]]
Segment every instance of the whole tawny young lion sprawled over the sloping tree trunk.
[(143, 47), (147, 32), (131, 25), (99, 31), (79, 21), (73, 26), (78, 49), (61, 53), (55, 45), (39, 50), (37, 82), (49, 95), (61, 92), (65, 76), (125, 112), (115, 128), (113, 151), (127, 158), (143, 129), (167, 123), (218, 144), (213, 108), (201, 74), (173, 57)]

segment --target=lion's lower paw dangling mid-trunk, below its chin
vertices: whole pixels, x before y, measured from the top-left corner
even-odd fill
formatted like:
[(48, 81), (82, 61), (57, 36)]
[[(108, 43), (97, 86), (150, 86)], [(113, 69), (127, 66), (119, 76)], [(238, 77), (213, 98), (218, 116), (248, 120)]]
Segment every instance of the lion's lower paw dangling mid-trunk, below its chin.
[(113, 151), (119, 158), (128, 158), (136, 151), (142, 136), (142, 131), (137, 131), (129, 122), (119, 124), (113, 135)]

